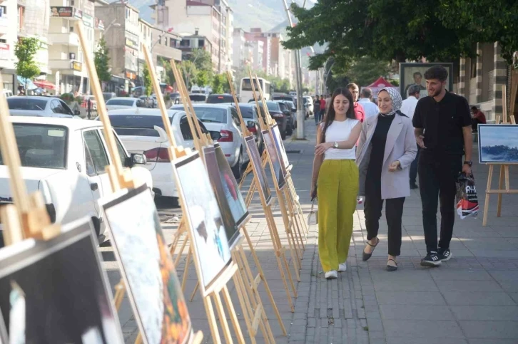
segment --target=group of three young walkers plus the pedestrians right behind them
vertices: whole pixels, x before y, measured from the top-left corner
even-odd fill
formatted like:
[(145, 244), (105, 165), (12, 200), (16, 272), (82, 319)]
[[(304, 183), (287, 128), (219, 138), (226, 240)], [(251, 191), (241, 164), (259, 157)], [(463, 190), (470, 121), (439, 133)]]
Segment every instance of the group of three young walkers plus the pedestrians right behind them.
[(318, 127), (310, 197), (318, 197), (318, 249), (325, 278), (337, 278), (347, 269), (357, 197), (365, 197), (363, 261), (380, 243), (385, 203), (387, 271), (397, 270), (403, 205), (410, 189), (419, 189), (421, 195), (427, 249), (421, 265), (440, 266), (452, 258), (456, 182), (459, 174), (472, 174), (472, 126), (485, 118), (473, 108), (472, 116), (467, 100), (445, 88), (444, 67), (433, 66), (424, 76), (424, 97), (420, 85), (410, 86), (405, 100), (396, 88), (383, 88), (374, 103), (370, 89), (360, 93), (350, 83), (315, 101)]

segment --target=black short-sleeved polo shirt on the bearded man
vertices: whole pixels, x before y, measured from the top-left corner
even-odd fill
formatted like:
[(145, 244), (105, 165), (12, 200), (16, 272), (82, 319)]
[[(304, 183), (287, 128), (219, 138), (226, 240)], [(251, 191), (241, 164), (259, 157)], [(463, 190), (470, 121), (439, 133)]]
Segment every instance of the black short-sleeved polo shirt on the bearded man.
[(430, 96), (421, 98), (415, 107), (412, 123), (424, 130), (426, 149), (421, 149), (421, 152), (464, 155), (462, 127), (471, 127), (466, 98), (448, 91), (440, 102)]

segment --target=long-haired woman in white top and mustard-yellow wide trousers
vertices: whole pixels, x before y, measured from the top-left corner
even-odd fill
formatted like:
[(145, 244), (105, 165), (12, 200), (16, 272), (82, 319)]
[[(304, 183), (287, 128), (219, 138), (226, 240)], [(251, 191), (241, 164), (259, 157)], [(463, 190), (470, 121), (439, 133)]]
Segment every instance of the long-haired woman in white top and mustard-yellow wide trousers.
[(310, 191), (312, 199), (318, 195), (318, 251), (325, 278), (337, 278), (337, 272), (347, 269), (358, 192), (355, 144), (361, 129), (351, 93), (337, 88), (317, 128)]

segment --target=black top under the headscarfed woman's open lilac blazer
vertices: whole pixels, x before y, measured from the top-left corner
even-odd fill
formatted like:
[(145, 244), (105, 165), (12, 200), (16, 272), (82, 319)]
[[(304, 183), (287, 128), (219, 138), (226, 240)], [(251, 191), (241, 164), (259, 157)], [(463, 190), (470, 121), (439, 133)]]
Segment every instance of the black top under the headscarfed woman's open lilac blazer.
[(372, 149), (370, 151), (369, 166), (367, 167), (366, 188), (381, 187), (381, 170), (383, 158), (385, 157), (385, 143), (387, 143), (387, 134), (395, 116), (397, 115), (379, 115), (377, 118), (377, 125), (370, 139)]

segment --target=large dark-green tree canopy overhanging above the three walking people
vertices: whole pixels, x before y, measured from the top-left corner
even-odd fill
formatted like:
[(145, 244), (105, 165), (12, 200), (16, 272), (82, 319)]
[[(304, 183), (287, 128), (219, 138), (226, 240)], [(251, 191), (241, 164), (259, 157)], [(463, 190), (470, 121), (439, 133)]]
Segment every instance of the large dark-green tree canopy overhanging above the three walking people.
[(285, 48), (327, 48), (310, 57), (310, 69), (323, 66), (330, 57), (341, 68), (357, 58), (378, 61), (453, 61), (472, 56), (468, 33), (445, 26), (439, 17), (441, 0), (416, 5), (411, 0), (322, 0), (311, 9), (292, 4), (298, 24), (287, 28)]

